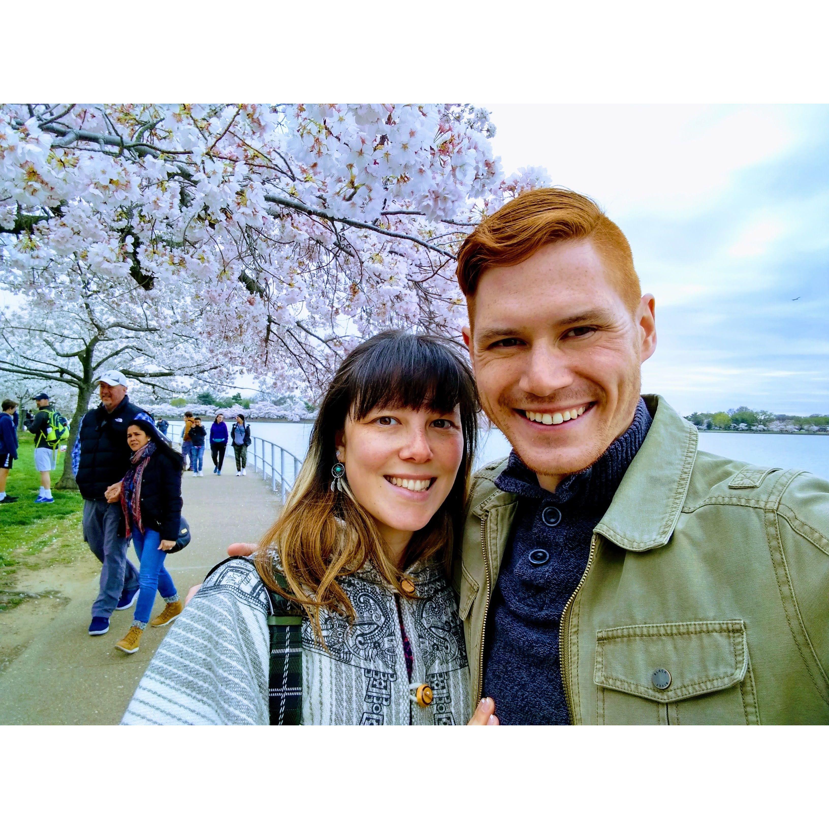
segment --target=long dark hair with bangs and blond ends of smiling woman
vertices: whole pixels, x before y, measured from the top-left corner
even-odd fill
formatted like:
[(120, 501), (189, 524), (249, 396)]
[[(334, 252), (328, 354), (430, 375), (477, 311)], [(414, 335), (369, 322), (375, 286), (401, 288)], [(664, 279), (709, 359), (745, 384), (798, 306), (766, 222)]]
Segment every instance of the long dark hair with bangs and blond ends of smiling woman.
[[(361, 420), (380, 408), (451, 412), (459, 407), (463, 457), (448, 497), (429, 524), (414, 533), (402, 569), (386, 555), (375, 521), (346, 484), (332, 490), (337, 463), (337, 434), (347, 416)], [(337, 578), (356, 573), (366, 561), (394, 588), (403, 570), (438, 555), (448, 571), (454, 542), (463, 526), (463, 507), (478, 434), (478, 392), (467, 362), (454, 343), (438, 337), (389, 331), (351, 351), (322, 398), (311, 431), (308, 454), (279, 518), (259, 543), (256, 569), (275, 592), (302, 604), (322, 640), (320, 608), (346, 613), (354, 609)], [(274, 550), (288, 590), (274, 577)]]

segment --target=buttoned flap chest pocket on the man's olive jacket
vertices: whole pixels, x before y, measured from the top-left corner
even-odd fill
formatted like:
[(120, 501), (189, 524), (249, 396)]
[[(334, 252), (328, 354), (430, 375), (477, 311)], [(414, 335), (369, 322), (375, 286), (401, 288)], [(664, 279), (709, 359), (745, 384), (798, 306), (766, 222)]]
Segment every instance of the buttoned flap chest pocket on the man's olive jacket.
[(758, 725), (742, 620), (596, 633), (599, 725)]

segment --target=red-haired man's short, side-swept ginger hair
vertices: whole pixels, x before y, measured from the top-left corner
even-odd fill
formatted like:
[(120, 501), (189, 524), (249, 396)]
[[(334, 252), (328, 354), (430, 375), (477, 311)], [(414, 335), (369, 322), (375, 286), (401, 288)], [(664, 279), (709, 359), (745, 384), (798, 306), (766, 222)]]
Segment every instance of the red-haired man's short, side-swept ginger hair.
[(591, 241), (610, 266), (618, 292), (633, 311), (642, 297), (628, 240), (595, 201), (572, 190), (543, 187), (507, 202), (470, 233), (458, 253), (458, 284), (473, 297), (488, 268), (520, 264), (543, 245)]

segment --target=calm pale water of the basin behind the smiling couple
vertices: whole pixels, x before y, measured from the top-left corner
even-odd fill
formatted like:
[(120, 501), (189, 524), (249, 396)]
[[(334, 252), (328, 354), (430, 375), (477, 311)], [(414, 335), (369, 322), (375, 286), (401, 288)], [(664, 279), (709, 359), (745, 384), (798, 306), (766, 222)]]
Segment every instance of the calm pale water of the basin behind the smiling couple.
[[(210, 424), (206, 424), (208, 429)], [(311, 434), (310, 423), (251, 422), (250, 434), (283, 446), (303, 458)], [(725, 458), (754, 463), (805, 469), (829, 479), (829, 435), (812, 434), (738, 434), (701, 432), (700, 448)], [(510, 451), (507, 439), (498, 429), (482, 430), (476, 467), (505, 457)], [(232, 457), (231, 457), (232, 460)]]

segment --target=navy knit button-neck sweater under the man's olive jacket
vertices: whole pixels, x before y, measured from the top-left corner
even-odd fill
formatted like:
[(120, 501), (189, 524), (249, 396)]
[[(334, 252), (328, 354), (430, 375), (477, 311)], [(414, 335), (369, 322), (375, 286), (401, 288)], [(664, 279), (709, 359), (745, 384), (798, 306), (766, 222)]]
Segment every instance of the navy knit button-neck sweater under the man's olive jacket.
[(495, 485), (519, 496), (487, 624), (486, 696), (503, 725), (569, 725), (559, 623), (581, 580), (601, 521), (651, 425), (639, 400), (633, 424), (596, 463), (555, 492), (511, 453)]

